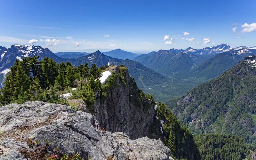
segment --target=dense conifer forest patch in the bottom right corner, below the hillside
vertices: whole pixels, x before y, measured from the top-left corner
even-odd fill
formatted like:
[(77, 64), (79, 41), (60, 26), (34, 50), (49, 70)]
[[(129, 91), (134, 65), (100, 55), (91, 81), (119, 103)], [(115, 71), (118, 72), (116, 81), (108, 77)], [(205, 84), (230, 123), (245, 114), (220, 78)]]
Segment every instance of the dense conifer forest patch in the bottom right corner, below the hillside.
[(200, 134), (195, 141), (202, 160), (241, 160), (250, 155), (244, 140), (238, 136)]

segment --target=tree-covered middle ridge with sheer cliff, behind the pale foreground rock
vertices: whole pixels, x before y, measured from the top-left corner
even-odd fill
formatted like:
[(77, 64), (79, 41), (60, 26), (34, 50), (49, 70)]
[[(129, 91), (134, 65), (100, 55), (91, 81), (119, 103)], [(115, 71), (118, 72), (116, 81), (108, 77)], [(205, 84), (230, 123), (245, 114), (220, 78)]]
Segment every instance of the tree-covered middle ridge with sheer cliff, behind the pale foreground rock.
[[(43, 101), (70, 105), (77, 110), (81, 107), (69, 100), (83, 100), (85, 108), (82, 111), (94, 114), (107, 131), (126, 132), (131, 139), (146, 135), (160, 137), (159, 140), (171, 149), (173, 158), (200, 159), (189, 130), (165, 104), (156, 105), (152, 95), (138, 89), (123, 65), (97, 68), (92, 64), (89, 68), (85, 63), (76, 68), (69, 62), (58, 64), (48, 57), (42, 61), (38, 59), (33, 56), (15, 61), (1, 89), (3, 105)], [(109, 72), (111, 68), (114, 69), (111, 76), (103, 83), (101, 72)]]

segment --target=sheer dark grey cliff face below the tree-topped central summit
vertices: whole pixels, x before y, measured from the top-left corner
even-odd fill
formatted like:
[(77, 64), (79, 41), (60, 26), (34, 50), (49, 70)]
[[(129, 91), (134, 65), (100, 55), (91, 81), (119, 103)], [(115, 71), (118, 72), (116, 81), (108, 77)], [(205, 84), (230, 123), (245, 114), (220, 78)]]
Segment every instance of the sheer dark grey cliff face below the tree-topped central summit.
[[(161, 137), (160, 132), (152, 132), (155, 125), (159, 125), (159, 128), (161, 125), (154, 116), (154, 104), (145, 97), (144, 101), (141, 99), (139, 88), (129, 76), (127, 68), (111, 66), (107, 70), (117, 73), (118, 76), (115, 83), (108, 88), (105, 100), (102, 100), (100, 94), (96, 94), (93, 115), (102, 127), (110, 132), (124, 132), (131, 139), (144, 136), (154, 139)], [(125, 84), (120, 76), (124, 77)]]

